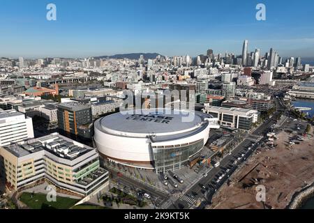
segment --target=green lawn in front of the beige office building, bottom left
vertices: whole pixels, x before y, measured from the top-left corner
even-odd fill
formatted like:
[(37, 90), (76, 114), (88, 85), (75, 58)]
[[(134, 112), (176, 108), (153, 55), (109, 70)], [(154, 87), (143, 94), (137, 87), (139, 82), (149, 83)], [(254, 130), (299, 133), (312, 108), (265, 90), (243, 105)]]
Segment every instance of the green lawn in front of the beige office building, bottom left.
[(31, 198), (31, 195), (32, 193), (24, 192), (20, 196), (20, 201), (32, 209), (68, 209), (79, 201), (66, 197), (57, 197), (56, 202), (48, 202), (46, 194), (33, 194), (33, 198)]

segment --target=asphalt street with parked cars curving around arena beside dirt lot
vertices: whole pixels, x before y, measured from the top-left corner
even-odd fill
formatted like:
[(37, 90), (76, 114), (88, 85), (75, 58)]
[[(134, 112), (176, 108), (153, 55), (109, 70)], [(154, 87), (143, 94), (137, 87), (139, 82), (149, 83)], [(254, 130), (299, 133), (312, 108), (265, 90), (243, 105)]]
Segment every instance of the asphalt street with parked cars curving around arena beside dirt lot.
[[(266, 139), (265, 134), (271, 130), (271, 125), (276, 124), (278, 116), (281, 112), (285, 111), (285, 107), (278, 98), (275, 98), (277, 111), (273, 116), (268, 118), (262, 125), (260, 125), (256, 130), (247, 134), (244, 141), (241, 142), (230, 155), (227, 155), (223, 160), (220, 161), (220, 166), (217, 168), (211, 169), (207, 176), (201, 178), (197, 183), (195, 183), (185, 194), (181, 194), (178, 197), (174, 197), (171, 194), (165, 192), (157, 191), (154, 187), (149, 187), (149, 185), (144, 185), (143, 183), (138, 182), (135, 179), (128, 178), (126, 176), (117, 176), (117, 171), (112, 172), (114, 177), (117, 177), (117, 180), (123, 184), (128, 185), (133, 190), (144, 190), (145, 192), (151, 194), (151, 201), (159, 208), (193, 208), (195, 201), (197, 199), (203, 200), (204, 198), (207, 201), (202, 202), (199, 208), (204, 208), (206, 203), (211, 202), (211, 197), (215, 194), (220, 187), (226, 183), (230, 176), (236, 171), (241, 164), (246, 162), (248, 157), (250, 157), (255, 149), (260, 145), (262, 141)], [(252, 146), (254, 144), (254, 146)], [(248, 148), (251, 148), (248, 150)], [(238, 160), (241, 158), (241, 160)], [(234, 161), (237, 164), (234, 164)], [(227, 171), (227, 169), (229, 169)], [(219, 176), (225, 174), (225, 176), (217, 183)]]

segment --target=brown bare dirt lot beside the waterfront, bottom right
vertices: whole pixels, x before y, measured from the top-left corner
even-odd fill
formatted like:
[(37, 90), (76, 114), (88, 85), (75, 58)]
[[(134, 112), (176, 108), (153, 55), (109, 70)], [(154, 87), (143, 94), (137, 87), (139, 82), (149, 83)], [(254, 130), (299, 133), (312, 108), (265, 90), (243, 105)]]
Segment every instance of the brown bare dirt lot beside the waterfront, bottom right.
[[(262, 148), (236, 172), (231, 183), (223, 185), (209, 208), (285, 208), (294, 192), (314, 180), (314, 139), (304, 137), (300, 144), (287, 146), (286, 132), (278, 134), (272, 150)], [(266, 187), (266, 202), (256, 201), (257, 185)]]

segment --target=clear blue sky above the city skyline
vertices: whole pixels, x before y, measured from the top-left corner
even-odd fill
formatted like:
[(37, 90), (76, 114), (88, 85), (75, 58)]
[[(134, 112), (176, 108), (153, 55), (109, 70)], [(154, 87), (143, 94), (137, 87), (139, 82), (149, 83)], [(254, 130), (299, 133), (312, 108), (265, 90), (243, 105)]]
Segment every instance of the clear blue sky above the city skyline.
[[(46, 20), (48, 3), (57, 21)], [(251, 51), (314, 57), (313, 0), (1, 0), (0, 27), (0, 56), (10, 57), (241, 54), (244, 39)]]

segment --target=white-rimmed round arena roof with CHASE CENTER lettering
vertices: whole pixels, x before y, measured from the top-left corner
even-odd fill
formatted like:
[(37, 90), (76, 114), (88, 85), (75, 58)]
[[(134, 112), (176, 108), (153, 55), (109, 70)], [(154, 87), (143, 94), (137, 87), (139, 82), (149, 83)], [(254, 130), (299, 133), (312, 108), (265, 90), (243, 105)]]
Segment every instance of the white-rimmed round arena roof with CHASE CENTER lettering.
[[(188, 118), (189, 114), (190, 116), (194, 115), (194, 118), (184, 122), (182, 118)], [(197, 130), (202, 127), (205, 118), (211, 118), (211, 116), (201, 112), (183, 112), (171, 109), (156, 112), (154, 109), (143, 109), (137, 110), (133, 114), (119, 112), (101, 118), (100, 130), (126, 137), (147, 137), (148, 134), (165, 136)]]

